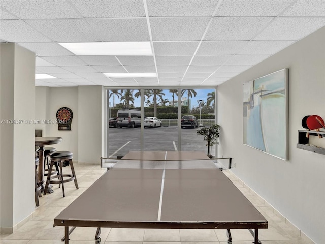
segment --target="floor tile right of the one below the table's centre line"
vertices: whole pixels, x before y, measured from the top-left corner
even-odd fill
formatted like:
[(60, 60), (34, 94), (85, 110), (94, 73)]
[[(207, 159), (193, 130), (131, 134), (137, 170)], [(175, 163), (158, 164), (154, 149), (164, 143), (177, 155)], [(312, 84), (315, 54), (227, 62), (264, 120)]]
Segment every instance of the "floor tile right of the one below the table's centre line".
[(181, 241), (218, 241), (214, 230), (181, 229)]

